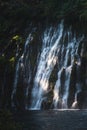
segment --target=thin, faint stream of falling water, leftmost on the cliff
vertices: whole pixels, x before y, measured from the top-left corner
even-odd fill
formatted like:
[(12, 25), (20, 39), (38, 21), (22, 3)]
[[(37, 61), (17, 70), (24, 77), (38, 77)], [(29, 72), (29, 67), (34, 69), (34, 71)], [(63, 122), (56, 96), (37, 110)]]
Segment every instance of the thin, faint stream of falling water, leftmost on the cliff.
[[(27, 85), (26, 90), (25, 90), (25, 95), (26, 95), (26, 97), (28, 96), (29, 83), (31, 80), (31, 69), (30, 69), (30, 62), (28, 60), (28, 55), (29, 55), (28, 50), (29, 50), (29, 44), (32, 40), (33, 40), (33, 37), (32, 37), (32, 34), (30, 33), (26, 42), (25, 42), (24, 52), (23, 52), (22, 56), (19, 58), (17, 65), (16, 65), (15, 80), (14, 80), (14, 85), (13, 85), (13, 91), (11, 94), (12, 107), (15, 106), (14, 97), (15, 97), (16, 91), (17, 91), (17, 85), (18, 85), (18, 80), (19, 80), (19, 76), (20, 76), (19, 75), (20, 71), (22, 72), (24, 80), (25, 81), (27, 80), (28, 85)], [(26, 68), (28, 69), (27, 73), (25, 73)], [(27, 104), (25, 107), (27, 107)]]

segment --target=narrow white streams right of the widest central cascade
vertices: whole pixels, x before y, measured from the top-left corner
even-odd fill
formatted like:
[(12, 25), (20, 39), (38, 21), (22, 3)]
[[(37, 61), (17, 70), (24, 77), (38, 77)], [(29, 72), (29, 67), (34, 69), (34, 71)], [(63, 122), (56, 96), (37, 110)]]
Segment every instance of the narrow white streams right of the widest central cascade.
[[(74, 38), (71, 39), (71, 41), (67, 42), (67, 46), (65, 47), (65, 56), (63, 59), (61, 59), (62, 65), (60, 65), (60, 70), (58, 71), (58, 80), (56, 81), (55, 87), (54, 87), (54, 97), (53, 97), (53, 104), (54, 108), (68, 108), (68, 95), (69, 95), (69, 87), (70, 87), (70, 77), (72, 72), (72, 67), (75, 64), (75, 56), (78, 56), (77, 49), (79, 47), (80, 42), (83, 40), (83, 36), (80, 39)], [(68, 35), (68, 39), (70, 39), (70, 35)], [(63, 54), (63, 53), (62, 53)], [(68, 61), (70, 63), (68, 64)], [(77, 59), (79, 60), (79, 58)], [(78, 62), (79, 64), (79, 62)], [(61, 74), (64, 72), (64, 81), (61, 80)], [(78, 70), (77, 70), (78, 73)], [(78, 76), (77, 76), (78, 77)], [(64, 82), (63, 84), (63, 93), (60, 93), (61, 88), (61, 82)], [(75, 102), (77, 102), (77, 93), (81, 91), (80, 84), (76, 83), (76, 94), (75, 94)], [(73, 106), (73, 105), (72, 105)]]

